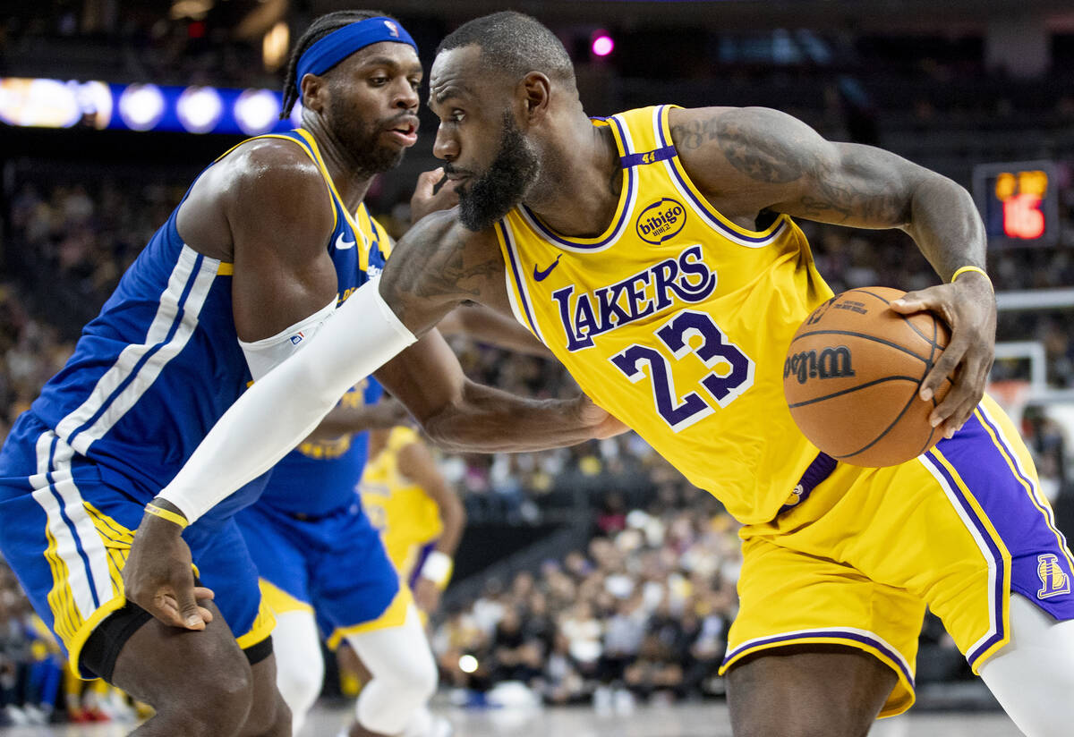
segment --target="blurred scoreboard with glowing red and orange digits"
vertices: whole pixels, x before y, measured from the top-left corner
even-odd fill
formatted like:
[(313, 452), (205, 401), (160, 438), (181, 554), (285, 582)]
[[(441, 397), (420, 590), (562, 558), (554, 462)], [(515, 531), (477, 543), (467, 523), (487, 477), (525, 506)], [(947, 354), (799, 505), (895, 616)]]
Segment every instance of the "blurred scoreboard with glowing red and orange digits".
[(1059, 240), (1059, 177), (1050, 161), (978, 164), (973, 198), (988, 245), (1054, 246)]

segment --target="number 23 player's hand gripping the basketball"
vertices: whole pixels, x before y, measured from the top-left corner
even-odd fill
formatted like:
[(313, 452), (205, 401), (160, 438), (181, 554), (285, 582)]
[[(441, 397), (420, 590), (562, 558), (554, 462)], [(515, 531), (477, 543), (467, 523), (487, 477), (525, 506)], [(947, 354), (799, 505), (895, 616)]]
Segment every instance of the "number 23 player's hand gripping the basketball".
[(988, 279), (976, 271), (961, 275), (954, 283), (910, 292), (891, 303), (902, 314), (928, 310), (950, 326), (950, 342), (921, 382), (919, 396), (929, 401), (945, 377), (952, 387), (932, 413), (932, 427), (942, 425), (950, 438), (973, 414), (985, 394), (988, 372), (996, 356), (996, 295)]

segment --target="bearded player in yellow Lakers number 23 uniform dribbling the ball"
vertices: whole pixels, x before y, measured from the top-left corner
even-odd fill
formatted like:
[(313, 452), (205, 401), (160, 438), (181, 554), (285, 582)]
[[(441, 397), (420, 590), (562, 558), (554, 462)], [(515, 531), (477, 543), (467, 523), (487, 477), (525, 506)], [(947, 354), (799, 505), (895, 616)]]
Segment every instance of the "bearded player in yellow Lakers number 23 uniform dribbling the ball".
[[(1025, 734), (1070, 733), (1074, 572), (1025, 445), (983, 399), (996, 304), (961, 187), (769, 109), (664, 105), (591, 120), (562, 44), (518, 13), (445, 39), (429, 104), (460, 207), (401, 239), (376, 313), (345, 305), (229, 411), (176, 477), (179, 492), (257, 472), (262, 458), (235, 466), (236, 439), (267, 416), (262, 404), (301, 437), (325, 409), (310, 407), (318, 393), (376, 365), (363, 340), (377, 318), (421, 334), (473, 299), (513, 313), (744, 524), (725, 662), (738, 737), (851, 737), (908, 708), (926, 605)], [(945, 282), (892, 304), (952, 327), (920, 389), (929, 401), (953, 377), (932, 411), (945, 437), (933, 451), (861, 469), (794, 426), (784, 351), (831, 292), (792, 217), (899, 227)], [(322, 363), (340, 375), (302, 385), (302, 367)]]

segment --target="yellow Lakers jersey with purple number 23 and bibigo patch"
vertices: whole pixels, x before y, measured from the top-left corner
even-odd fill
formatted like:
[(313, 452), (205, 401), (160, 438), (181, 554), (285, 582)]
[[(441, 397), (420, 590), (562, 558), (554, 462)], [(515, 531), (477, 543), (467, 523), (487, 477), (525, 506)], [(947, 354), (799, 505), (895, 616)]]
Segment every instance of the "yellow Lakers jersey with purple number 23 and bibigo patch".
[(508, 296), (598, 404), (743, 522), (771, 519), (817, 456), (783, 398), (795, 330), (832, 296), (798, 226), (750, 231), (679, 161), (669, 105), (609, 126), (623, 188), (607, 231), (555, 233), (524, 205), (497, 223)]

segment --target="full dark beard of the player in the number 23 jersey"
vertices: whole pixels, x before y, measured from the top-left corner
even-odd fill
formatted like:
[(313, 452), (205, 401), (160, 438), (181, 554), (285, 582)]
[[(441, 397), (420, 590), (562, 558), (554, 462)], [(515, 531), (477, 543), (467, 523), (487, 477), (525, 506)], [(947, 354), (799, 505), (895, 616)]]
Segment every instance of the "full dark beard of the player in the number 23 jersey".
[[(445, 169), (450, 172), (450, 164)], [(459, 221), (470, 231), (483, 231), (522, 202), (540, 173), (540, 161), (533, 147), (514, 124), (510, 110), (504, 110), (504, 131), (499, 148), (484, 174), (475, 176), (459, 190)]]

